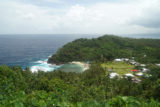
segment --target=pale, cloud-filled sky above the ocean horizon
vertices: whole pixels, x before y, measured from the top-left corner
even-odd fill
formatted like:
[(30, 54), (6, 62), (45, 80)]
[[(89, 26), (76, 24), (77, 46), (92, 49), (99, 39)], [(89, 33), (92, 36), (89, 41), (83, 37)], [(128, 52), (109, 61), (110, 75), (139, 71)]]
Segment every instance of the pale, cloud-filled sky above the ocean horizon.
[(0, 34), (160, 32), (160, 0), (0, 0)]

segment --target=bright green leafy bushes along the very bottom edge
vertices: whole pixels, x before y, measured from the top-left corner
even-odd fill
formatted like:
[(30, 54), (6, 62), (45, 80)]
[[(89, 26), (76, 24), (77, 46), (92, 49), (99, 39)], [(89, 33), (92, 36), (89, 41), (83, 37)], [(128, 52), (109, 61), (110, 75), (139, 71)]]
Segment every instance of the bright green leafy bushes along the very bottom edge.
[[(11, 100), (5, 100), (1, 107), (160, 107), (160, 103), (153, 99), (149, 101), (140, 100), (134, 97), (117, 96), (108, 101), (83, 101), (69, 102), (53, 99), (53, 93), (35, 91), (26, 95), (24, 92), (17, 93)], [(54, 95), (53, 95), (54, 96)], [(1, 99), (2, 100), (2, 99)]]

